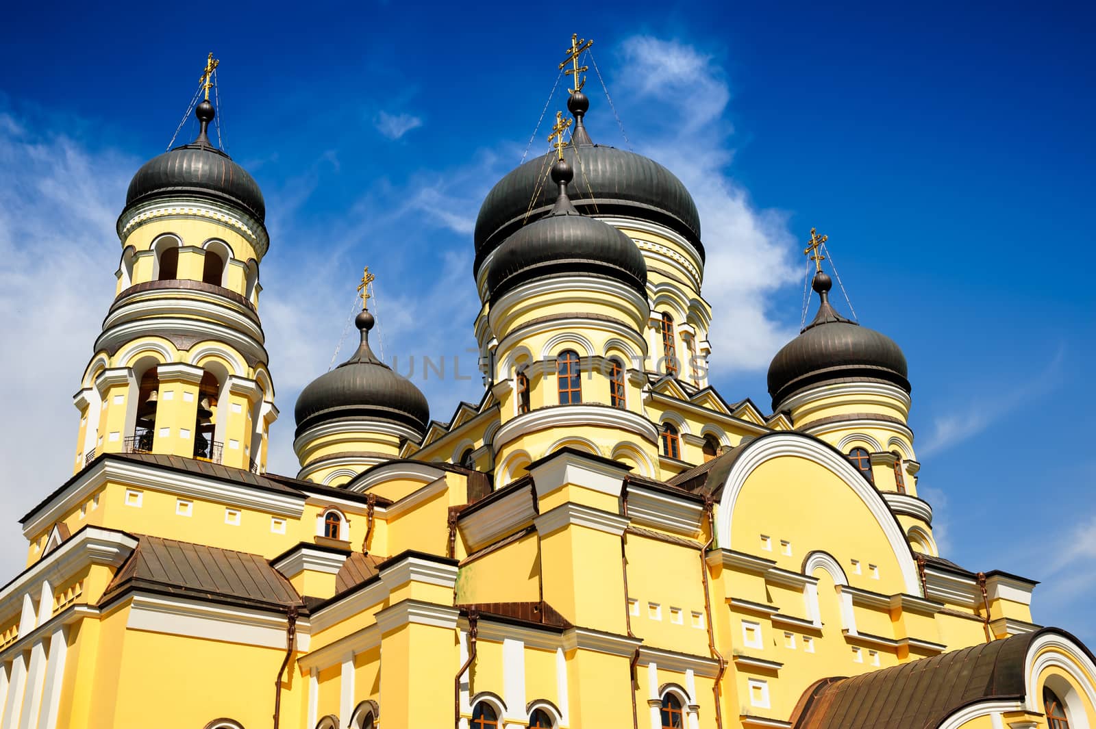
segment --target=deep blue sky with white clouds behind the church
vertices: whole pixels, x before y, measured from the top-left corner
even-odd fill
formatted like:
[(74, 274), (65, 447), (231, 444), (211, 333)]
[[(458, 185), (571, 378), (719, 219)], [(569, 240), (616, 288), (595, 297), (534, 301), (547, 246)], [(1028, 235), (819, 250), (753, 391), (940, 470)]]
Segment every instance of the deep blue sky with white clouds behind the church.
[[(592, 69), (595, 141), (653, 157), (697, 199), (724, 396), (769, 406), (765, 367), (798, 329), (817, 225), (859, 321), (910, 360), (945, 556), (1046, 580), (1036, 620), (1096, 643), (1092, 7), (514, 8), (5, 12), (0, 360), (26, 414), (0, 426), (11, 517), (68, 475), (69, 398), (113, 296), (125, 186), (168, 146), (206, 53), (227, 149), (267, 200), (272, 466), (292, 473), (293, 403), (331, 361), (366, 263), (385, 355), (448, 362), (445, 381), (419, 382), (433, 417), (479, 397), (452, 367), (473, 369), (471, 225), (579, 32), (627, 134)], [(0, 544), (16, 553), (14, 524)]]

